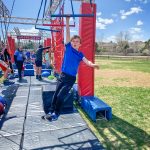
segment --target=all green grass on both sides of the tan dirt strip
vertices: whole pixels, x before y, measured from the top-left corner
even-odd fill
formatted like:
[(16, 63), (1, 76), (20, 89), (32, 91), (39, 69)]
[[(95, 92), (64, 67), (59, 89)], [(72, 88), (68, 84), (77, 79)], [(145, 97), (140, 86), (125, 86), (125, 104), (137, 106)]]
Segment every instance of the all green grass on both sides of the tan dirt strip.
[[(109, 59), (97, 62), (102, 70), (122, 69), (150, 73), (150, 61)], [(98, 120), (94, 123), (81, 108), (78, 110), (104, 148), (108, 150), (150, 149), (150, 88), (130, 87), (130, 85), (129, 87), (101, 86), (99, 85), (101, 80), (107, 79), (100, 76), (95, 78), (97, 83), (95, 95), (112, 107), (112, 120)], [(115, 83), (120, 81), (128, 81), (128, 79), (113, 80)]]

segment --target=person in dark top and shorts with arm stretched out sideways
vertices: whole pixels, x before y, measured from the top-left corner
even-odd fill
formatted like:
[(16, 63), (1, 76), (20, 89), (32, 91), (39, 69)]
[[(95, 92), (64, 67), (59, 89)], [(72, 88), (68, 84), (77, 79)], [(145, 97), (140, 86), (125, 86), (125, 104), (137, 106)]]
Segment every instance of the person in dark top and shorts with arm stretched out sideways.
[(43, 47), (42, 45), (39, 46), (39, 48), (36, 51), (35, 55), (35, 65), (36, 65), (36, 79), (42, 80), (41, 77), (41, 70), (42, 70), (42, 53), (44, 50), (49, 49), (48, 47)]

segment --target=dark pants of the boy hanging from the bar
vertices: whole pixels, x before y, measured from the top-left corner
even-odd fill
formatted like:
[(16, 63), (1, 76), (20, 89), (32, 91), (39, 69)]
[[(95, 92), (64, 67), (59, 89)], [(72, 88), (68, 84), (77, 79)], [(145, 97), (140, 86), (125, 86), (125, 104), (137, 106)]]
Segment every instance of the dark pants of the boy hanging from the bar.
[(60, 114), (61, 108), (64, 104), (64, 99), (72, 88), (76, 81), (76, 77), (61, 73), (60, 78), (57, 81), (56, 91), (52, 98), (50, 111), (56, 114)]

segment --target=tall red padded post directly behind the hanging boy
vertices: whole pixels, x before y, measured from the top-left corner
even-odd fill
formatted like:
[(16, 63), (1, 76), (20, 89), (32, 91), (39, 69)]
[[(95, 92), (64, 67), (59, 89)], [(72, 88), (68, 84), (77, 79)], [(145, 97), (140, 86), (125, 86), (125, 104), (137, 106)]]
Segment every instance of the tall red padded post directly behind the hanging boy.
[[(87, 59), (94, 62), (95, 56), (95, 31), (96, 31), (96, 4), (82, 3), (81, 14), (94, 13), (94, 17), (81, 17), (79, 35), (82, 51)], [(79, 67), (78, 90), (80, 96), (94, 96), (94, 69), (86, 66), (83, 62)]]

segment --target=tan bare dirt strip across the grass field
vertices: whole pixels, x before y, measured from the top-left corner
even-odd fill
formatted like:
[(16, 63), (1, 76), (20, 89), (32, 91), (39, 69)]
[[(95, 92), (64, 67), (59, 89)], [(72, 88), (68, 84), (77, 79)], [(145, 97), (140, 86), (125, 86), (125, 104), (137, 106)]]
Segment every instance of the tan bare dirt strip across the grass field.
[(95, 70), (96, 86), (150, 87), (150, 73), (127, 70)]

